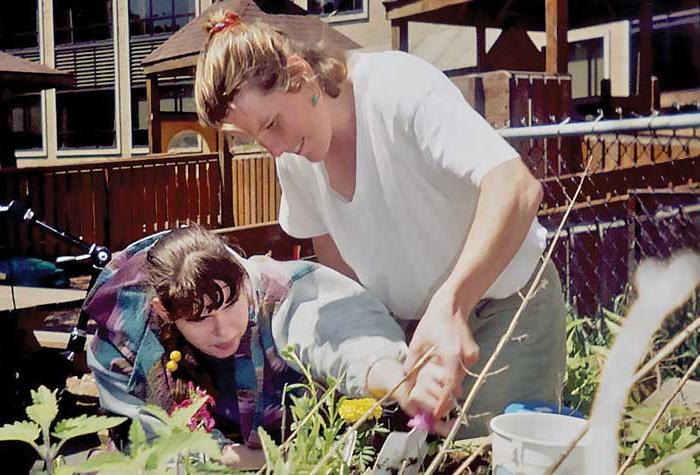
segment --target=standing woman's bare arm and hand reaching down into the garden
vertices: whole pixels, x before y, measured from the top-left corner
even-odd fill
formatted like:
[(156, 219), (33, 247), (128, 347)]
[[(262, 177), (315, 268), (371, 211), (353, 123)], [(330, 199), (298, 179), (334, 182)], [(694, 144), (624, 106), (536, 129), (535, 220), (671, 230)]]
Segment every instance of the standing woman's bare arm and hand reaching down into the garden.
[[(449, 410), (451, 395), (459, 392), (465, 375), (462, 365), (469, 367), (479, 358), (467, 317), (515, 256), (541, 200), (542, 186), (520, 160), (498, 165), (481, 181), (464, 248), (431, 299), (409, 347), (407, 367), (435, 346), (446, 369), (446, 381), (436, 382), (442, 386), (437, 406), (429, 407), (436, 415)], [(415, 393), (424, 389), (418, 382)]]

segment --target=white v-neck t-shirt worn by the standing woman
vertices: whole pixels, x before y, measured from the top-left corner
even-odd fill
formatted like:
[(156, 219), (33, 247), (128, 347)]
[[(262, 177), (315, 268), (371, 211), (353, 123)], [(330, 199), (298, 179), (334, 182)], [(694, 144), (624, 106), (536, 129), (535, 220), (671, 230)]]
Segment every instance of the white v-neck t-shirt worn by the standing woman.
[[(356, 53), (356, 186), (329, 185), (323, 162), (276, 160), (280, 224), (292, 236), (330, 234), (360, 282), (401, 319), (420, 318), (452, 271), (472, 225), (479, 182), (518, 153), (429, 63), (406, 53)], [(530, 278), (546, 232), (535, 219), (486, 292), (504, 298)]]

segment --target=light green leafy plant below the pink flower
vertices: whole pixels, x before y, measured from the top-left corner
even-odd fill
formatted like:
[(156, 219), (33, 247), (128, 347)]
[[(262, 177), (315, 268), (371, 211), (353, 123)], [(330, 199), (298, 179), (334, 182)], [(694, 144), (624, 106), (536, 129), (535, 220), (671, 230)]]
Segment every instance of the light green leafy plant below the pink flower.
[(192, 418), (207, 402), (195, 396), (187, 407), (178, 407), (172, 414), (157, 406), (145, 406), (141, 412), (154, 417), (155, 437), (149, 440), (139, 419), (129, 428), (129, 451), (103, 452), (74, 467), (70, 473), (96, 472), (101, 475), (122, 474), (204, 474), (233, 473), (210, 459), (219, 457), (219, 445), (202, 428), (192, 428)]

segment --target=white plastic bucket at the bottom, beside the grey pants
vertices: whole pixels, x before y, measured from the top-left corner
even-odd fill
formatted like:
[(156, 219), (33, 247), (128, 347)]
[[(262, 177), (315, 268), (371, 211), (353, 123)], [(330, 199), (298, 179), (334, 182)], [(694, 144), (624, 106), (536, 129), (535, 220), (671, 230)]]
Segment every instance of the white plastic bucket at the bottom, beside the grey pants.
[[(493, 473), (545, 473), (585, 426), (584, 419), (539, 412), (516, 412), (494, 417), (491, 419)], [(556, 471), (557, 474), (584, 473), (585, 443), (584, 437)]]

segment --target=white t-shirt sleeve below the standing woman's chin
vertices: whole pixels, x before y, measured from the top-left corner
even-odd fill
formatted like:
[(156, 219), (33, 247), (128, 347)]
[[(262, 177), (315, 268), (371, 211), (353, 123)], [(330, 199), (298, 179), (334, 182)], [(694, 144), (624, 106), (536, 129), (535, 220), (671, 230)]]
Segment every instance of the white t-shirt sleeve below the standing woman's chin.
[(282, 188), (280, 200), (280, 226), (290, 236), (300, 239), (328, 234), (321, 217), (315, 175), (310, 164), (298, 163), (297, 158), (282, 156), (277, 158), (277, 177)]

